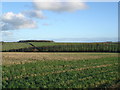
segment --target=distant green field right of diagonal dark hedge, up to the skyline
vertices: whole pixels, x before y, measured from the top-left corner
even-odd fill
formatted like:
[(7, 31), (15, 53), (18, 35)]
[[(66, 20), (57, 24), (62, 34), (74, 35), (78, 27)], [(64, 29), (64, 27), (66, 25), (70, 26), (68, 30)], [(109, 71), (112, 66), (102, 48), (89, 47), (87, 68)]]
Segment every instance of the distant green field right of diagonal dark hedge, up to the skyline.
[(113, 43), (55, 43), (50, 46), (39, 46), (33, 43), (38, 51), (51, 52), (118, 52), (118, 44)]

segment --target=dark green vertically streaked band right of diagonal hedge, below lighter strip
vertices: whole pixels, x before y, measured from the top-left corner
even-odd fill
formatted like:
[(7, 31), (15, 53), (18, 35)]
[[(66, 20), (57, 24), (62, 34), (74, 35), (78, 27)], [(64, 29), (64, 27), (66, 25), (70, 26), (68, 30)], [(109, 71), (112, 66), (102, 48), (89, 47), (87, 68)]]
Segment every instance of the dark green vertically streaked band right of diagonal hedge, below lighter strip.
[(46, 52), (118, 52), (117, 45), (55, 45), (36, 47), (38, 51)]

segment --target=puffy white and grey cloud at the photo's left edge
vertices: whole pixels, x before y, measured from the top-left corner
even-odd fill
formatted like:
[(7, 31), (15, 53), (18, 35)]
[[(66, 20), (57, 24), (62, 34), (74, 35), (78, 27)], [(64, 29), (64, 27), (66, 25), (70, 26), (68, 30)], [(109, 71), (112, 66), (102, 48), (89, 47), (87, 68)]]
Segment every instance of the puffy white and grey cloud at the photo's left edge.
[(36, 23), (33, 20), (25, 17), (22, 13), (5, 13), (1, 16), (1, 21), (0, 27), (2, 30), (36, 28)]

